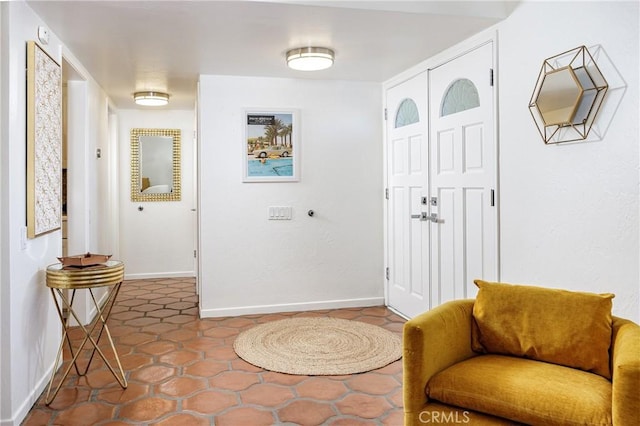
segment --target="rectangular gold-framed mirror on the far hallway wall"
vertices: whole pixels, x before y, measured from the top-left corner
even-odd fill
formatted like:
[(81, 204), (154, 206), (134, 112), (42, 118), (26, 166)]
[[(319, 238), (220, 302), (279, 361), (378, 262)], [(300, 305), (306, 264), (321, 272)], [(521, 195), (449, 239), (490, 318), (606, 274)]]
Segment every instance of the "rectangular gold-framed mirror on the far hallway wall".
[(131, 201), (180, 201), (180, 129), (131, 129)]

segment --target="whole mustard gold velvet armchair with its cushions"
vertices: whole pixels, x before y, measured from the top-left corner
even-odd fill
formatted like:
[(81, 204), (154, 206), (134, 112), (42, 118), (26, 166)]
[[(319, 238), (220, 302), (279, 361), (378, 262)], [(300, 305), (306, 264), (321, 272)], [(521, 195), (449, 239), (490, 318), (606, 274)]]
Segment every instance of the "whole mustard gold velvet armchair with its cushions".
[(640, 327), (613, 295), (476, 283), (404, 326), (405, 426), (640, 425)]

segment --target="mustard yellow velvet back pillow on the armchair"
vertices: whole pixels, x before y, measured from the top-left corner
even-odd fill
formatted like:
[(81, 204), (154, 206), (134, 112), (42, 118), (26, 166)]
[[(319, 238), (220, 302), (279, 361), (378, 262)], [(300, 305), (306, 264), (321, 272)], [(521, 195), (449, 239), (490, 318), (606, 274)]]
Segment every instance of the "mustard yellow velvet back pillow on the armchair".
[(613, 294), (474, 281), (472, 347), (591, 371), (611, 379)]

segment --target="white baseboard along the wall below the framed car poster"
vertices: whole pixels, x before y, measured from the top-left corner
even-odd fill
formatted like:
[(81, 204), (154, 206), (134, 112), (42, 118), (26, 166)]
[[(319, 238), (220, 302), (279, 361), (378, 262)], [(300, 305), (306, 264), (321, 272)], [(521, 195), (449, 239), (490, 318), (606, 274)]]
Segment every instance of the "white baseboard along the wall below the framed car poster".
[(236, 306), (232, 308), (201, 309), (201, 318), (233, 317), (240, 315), (273, 314), (278, 312), (318, 311), (323, 309), (366, 308), (384, 305), (384, 297), (362, 299), (323, 300), (318, 302), (276, 305)]

